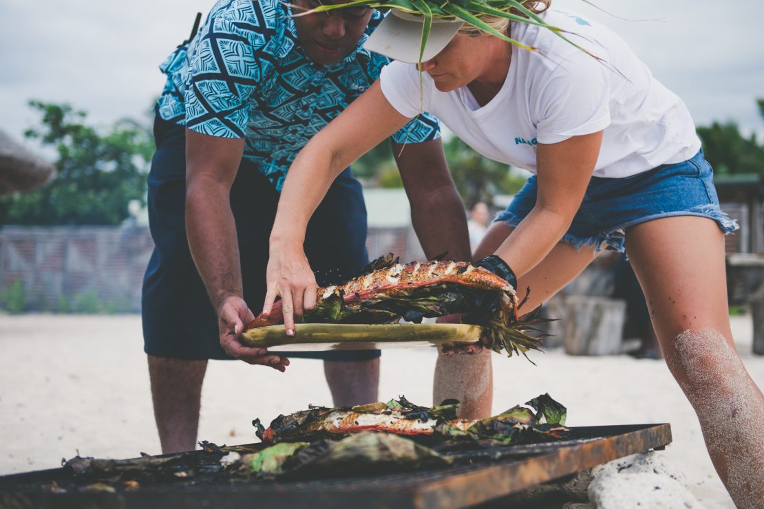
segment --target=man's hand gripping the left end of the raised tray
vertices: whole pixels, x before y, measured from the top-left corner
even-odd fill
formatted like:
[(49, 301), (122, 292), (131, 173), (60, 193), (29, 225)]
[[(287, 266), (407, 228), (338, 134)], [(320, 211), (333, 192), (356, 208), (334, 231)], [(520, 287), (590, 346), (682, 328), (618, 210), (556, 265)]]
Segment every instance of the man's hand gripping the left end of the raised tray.
[(220, 330), (220, 346), (229, 356), (241, 359), (250, 364), (262, 364), (278, 369), (280, 372), (289, 366), (289, 359), (277, 355), (269, 355), (264, 348), (250, 348), (238, 340), (244, 332), (244, 324), (254, 320), (246, 302), (241, 297), (226, 297), (218, 310), (218, 327)]

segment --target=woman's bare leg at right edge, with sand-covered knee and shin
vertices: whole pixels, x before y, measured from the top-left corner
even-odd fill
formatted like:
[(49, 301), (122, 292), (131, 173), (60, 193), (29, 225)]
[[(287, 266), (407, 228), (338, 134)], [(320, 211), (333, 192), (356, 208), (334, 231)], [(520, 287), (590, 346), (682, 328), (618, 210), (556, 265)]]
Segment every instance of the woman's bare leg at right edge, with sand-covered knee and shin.
[(721, 480), (737, 507), (764, 507), (764, 397), (730, 331), (724, 235), (704, 217), (666, 217), (627, 230), (626, 252)]

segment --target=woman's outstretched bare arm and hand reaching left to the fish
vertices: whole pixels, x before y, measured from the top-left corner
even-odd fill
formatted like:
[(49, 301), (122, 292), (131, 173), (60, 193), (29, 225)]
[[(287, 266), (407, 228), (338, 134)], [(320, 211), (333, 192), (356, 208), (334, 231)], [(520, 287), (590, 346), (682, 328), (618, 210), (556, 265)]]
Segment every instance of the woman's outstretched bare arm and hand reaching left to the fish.
[(263, 312), (269, 314), (281, 296), (287, 335), (294, 335), (294, 316), (316, 305), (316, 278), (303, 251), (310, 217), (343, 169), (409, 120), (387, 102), (379, 81), (374, 82), (312, 137), (290, 166), (270, 233), (263, 306)]

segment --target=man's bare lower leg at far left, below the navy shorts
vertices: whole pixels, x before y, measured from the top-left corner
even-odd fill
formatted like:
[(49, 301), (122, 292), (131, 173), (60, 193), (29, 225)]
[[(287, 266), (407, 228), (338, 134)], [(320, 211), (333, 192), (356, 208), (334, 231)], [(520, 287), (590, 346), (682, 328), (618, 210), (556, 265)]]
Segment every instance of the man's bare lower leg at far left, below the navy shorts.
[(151, 399), (162, 453), (196, 449), (206, 360), (148, 356)]

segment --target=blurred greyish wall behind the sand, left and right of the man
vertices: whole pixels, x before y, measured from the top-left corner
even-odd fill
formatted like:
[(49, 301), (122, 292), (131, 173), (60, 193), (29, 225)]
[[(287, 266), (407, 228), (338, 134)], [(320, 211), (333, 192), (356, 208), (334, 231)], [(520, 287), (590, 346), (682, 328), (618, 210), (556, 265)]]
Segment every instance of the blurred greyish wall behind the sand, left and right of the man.
[[(4, 227), (0, 308), (14, 311), (137, 312), (154, 243), (147, 227)], [(422, 256), (411, 227), (371, 228), (372, 258)]]

